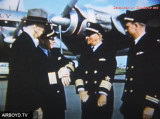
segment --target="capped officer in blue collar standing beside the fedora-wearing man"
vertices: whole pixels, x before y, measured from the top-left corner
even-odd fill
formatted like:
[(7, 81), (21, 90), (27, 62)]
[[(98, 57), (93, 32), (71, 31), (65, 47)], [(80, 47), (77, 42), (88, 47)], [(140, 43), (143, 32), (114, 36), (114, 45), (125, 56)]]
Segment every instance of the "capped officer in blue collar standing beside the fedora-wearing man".
[(64, 86), (71, 82), (70, 72), (74, 63), (65, 58), (60, 49), (54, 48), (56, 33), (53, 26), (39, 39), (37, 47), (37, 79), (40, 94), (40, 107), (43, 119), (65, 119), (66, 98)]

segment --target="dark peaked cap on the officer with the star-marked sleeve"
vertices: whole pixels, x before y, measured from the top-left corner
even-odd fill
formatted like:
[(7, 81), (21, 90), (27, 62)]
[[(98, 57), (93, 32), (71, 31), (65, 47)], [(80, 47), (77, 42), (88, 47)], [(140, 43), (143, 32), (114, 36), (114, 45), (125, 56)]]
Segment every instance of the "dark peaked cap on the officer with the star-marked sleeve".
[(105, 34), (105, 30), (98, 23), (88, 22), (87, 23), (87, 27), (86, 27), (86, 35), (90, 36), (90, 35), (95, 34), (95, 33), (100, 33), (100, 34), (104, 35)]

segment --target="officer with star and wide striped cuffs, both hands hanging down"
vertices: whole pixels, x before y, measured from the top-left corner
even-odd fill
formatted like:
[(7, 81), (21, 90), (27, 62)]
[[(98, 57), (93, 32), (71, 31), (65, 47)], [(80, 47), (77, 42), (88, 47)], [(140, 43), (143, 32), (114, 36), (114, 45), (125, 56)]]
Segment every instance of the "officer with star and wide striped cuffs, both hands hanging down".
[(88, 49), (82, 53), (74, 79), (82, 106), (82, 119), (111, 119), (115, 52), (104, 44), (105, 31), (96, 23), (87, 23)]

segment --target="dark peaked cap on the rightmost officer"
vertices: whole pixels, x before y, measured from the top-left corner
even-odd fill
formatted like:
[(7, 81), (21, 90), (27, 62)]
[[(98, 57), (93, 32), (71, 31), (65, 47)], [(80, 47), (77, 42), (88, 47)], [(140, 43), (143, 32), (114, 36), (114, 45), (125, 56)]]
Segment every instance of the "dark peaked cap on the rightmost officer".
[(144, 14), (143, 11), (126, 11), (124, 15), (125, 22), (140, 22), (140, 23), (147, 23), (147, 14)]

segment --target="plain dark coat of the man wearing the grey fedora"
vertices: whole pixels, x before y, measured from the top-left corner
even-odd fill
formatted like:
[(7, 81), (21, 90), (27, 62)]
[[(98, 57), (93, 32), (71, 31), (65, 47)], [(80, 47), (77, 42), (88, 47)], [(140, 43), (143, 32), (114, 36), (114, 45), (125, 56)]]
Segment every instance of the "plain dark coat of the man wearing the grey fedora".
[(23, 32), (13, 43), (9, 62), (6, 99), (7, 111), (34, 111), (38, 108), (37, 80), (35, 79), (36, 46)]

